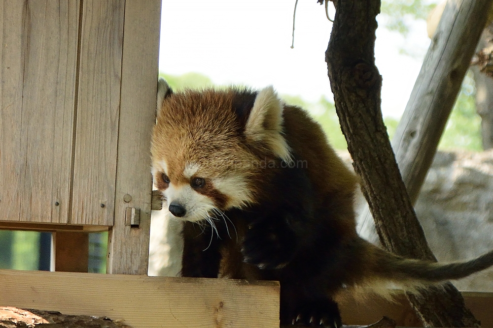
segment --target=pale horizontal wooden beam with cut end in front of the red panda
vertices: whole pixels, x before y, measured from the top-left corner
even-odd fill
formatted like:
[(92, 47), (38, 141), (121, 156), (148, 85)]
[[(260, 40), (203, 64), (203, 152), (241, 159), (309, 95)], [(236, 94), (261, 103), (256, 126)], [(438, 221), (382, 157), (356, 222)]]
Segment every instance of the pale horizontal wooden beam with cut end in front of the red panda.
[(0, 270), (0, 304), (135, 328), (279, 328), (279, 283)]

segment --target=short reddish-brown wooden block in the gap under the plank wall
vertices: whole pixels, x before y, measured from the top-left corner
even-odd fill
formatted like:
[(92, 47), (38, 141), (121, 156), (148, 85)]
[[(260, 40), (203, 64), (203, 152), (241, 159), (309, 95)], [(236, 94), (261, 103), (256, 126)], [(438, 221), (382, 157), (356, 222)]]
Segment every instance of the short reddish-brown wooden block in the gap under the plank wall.
[(57, 231), (53, 235), (55, 271), (87, 272), (89, 233)]

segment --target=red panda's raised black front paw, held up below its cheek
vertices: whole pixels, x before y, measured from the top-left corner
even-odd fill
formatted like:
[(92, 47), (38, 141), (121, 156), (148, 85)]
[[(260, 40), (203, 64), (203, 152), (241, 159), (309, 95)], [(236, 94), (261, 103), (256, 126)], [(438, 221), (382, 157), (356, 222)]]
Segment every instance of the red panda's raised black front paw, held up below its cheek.
[(285, 222), (276, 223), (270, 217), (255, 220), (243, 240), (244, 262), (265, 270), (284, 268), (294, 255), (295, 244), (296, 236)]

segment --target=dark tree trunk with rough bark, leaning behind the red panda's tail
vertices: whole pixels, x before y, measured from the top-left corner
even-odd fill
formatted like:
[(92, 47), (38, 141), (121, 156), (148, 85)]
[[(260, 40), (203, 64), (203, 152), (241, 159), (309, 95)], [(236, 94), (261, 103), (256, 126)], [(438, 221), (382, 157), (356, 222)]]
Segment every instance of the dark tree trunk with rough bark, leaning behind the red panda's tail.
[[(470, 10), (484, 6), (483, 1), (463, 2)], [(381, 242), (402, 256), (435, 260), (395, 162), (380, 110), (382, 77), (374, 58), (380, 0), (339, 0), (336, 8), (326, 52), (328, 76), (354, 170), (361, 177)], [(425, 326), (479, 326), (450, 283), (444, 289), (428, 289), (423, 297), (409, 294), (408, 298)]]

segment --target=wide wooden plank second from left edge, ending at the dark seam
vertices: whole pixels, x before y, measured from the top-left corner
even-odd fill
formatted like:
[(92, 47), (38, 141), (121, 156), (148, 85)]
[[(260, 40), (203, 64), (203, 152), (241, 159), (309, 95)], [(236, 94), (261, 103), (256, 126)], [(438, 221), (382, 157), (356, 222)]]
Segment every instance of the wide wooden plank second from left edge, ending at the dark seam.
[(21, 221), (67, 223), (79, 1), (26, 2)]

